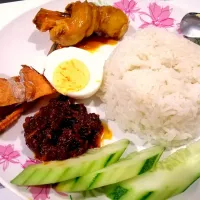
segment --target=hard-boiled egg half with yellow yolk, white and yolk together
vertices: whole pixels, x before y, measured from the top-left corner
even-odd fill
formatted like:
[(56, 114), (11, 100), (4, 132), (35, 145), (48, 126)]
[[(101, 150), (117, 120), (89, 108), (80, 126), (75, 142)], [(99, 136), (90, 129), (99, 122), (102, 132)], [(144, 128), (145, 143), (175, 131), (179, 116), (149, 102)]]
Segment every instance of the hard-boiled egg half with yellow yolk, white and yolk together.
[(44, 75), (58, 93), (75, 99), (94, 95), (101, 86), (105, 59), (76, 47), (47, 56)]

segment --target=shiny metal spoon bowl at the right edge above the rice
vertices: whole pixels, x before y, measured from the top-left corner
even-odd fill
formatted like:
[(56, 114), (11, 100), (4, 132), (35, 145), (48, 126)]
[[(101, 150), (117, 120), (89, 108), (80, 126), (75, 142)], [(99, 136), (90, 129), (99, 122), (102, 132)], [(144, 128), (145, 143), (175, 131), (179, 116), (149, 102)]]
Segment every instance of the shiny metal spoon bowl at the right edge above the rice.
[(181, 20), (180, 31), (187, 38), (200, 38), (200, 13), (186, 14)]

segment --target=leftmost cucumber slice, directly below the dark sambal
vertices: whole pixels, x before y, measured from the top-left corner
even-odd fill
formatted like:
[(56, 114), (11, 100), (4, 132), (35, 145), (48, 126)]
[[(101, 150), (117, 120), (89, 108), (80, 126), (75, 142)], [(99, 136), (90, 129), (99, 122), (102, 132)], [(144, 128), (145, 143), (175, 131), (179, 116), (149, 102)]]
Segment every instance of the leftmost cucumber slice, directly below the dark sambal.
[(15, 185), (44, 185), (69, 180), (97, 171), (119, 160), (129, 140), (123, 139), (102, 148), (90, 149), (77, 158), (31, 165), (11, 183)]

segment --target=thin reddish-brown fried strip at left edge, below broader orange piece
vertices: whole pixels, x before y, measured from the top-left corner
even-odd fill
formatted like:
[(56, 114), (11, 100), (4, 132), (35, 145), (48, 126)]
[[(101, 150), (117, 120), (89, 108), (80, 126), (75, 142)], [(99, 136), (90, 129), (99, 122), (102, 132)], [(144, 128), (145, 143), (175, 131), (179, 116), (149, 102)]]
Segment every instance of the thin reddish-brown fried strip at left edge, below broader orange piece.
[(14, 122), (16, 122), (22, 113), (24, 112), (25, 104), (16, 107), (12, 113), (7, 115), (3, 120), (0, 121), (0, 133), (2, 133), (6, 128), (10, 127)]

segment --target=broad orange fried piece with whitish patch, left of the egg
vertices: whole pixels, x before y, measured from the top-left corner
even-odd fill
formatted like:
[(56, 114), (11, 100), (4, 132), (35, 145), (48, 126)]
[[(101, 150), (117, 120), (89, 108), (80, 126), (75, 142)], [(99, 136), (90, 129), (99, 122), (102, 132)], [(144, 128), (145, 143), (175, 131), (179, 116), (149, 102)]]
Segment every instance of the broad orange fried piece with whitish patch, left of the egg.
[(55, 93), (43, 75), (28, 66), (22, 67), (19, 76), (0, 79), (0, 107), (33, 101)]

